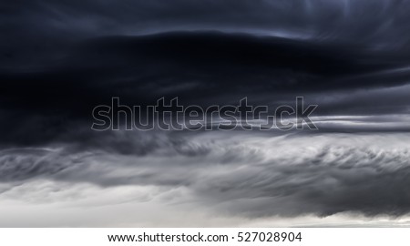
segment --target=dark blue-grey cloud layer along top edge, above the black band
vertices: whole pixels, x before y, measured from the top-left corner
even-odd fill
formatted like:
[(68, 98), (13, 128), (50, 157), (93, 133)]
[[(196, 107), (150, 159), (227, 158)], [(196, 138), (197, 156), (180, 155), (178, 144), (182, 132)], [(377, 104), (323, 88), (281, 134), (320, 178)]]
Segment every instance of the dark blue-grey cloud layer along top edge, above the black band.
[(86, 0), (19, 1), (1, 7), (3, 23), (10, 26), (5, 31), (29, 32), (29, 36), (53, 31), (55, 36), (104, 36), (221, 29), (383, 45), (408, 42), (408, 5), (408, 1), (382, 0)]

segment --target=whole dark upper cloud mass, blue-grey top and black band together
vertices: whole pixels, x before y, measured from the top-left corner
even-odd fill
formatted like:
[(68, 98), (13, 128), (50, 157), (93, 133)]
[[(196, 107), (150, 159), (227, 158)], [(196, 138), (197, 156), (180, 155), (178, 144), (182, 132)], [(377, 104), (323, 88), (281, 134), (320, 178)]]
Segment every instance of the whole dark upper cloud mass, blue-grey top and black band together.
[[(241, 97), (275, 104), (295, 95), (350, 94), (359, 88), (403, 85), (409, 76), (408, 4), (2, 4), (3, 118), (13, 114), (17, 126), (22, 121), (46, 121), (57, 128), (55, 121), (88, 118), (91, 108), (113, 96), (132, 105), (151, 104), (162, 96), (196, 104), (236, 102)], [(144, 36), (152, 33), (157, 35)], [(403, 112), (406, 103), (404, 98), (389, 110)], [(346, 110), (368, 111), (359, 106)], [(45, 125), (40, 122), (38, 128)]]

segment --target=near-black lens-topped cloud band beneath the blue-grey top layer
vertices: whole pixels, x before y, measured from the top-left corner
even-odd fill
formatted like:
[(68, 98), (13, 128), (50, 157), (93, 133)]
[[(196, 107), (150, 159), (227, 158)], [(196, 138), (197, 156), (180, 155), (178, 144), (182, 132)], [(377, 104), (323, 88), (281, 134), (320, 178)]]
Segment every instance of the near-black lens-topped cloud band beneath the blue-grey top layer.
[(89, 132), (91, 111), (111, 97), (129, 106), (155, 105), (160, 97), (179, 97), (185, 106), (236, 105), (248, 97), (274, 108), (304, 96), (320, 106), (319, 115), (405, 114), (405, 57), (215, 32), (90, 39), (47, 66), (0, 72), (1, 142), (98, 142), (105, 135)]

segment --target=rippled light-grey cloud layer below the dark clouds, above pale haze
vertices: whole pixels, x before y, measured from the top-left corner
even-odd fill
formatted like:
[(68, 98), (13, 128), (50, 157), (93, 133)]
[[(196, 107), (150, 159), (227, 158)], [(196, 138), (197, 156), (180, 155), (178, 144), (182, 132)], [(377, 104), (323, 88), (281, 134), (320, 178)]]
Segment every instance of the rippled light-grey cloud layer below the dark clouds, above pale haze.
[(0, 170), (3, 182), (184, 187), (190, 196), (164, 204), (194, 201), (225, 216), (403, 216), (410, 203), (406, 142), (400, 134), (269, 138), (209, 132), (185, 136), (179, 145), (165, 144), (139, 157), (15, 149), (2, 153)]

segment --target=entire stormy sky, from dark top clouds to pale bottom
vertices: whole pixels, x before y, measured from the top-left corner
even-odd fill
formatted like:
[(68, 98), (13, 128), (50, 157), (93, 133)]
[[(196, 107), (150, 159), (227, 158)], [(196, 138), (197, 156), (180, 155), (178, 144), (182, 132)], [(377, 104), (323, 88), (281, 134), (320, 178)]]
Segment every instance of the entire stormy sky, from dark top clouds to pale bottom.
[[(0, 3), (1, 227), (410, 225), (410, 1)], [(91, 129), (160, 97), (318, 130)]]

